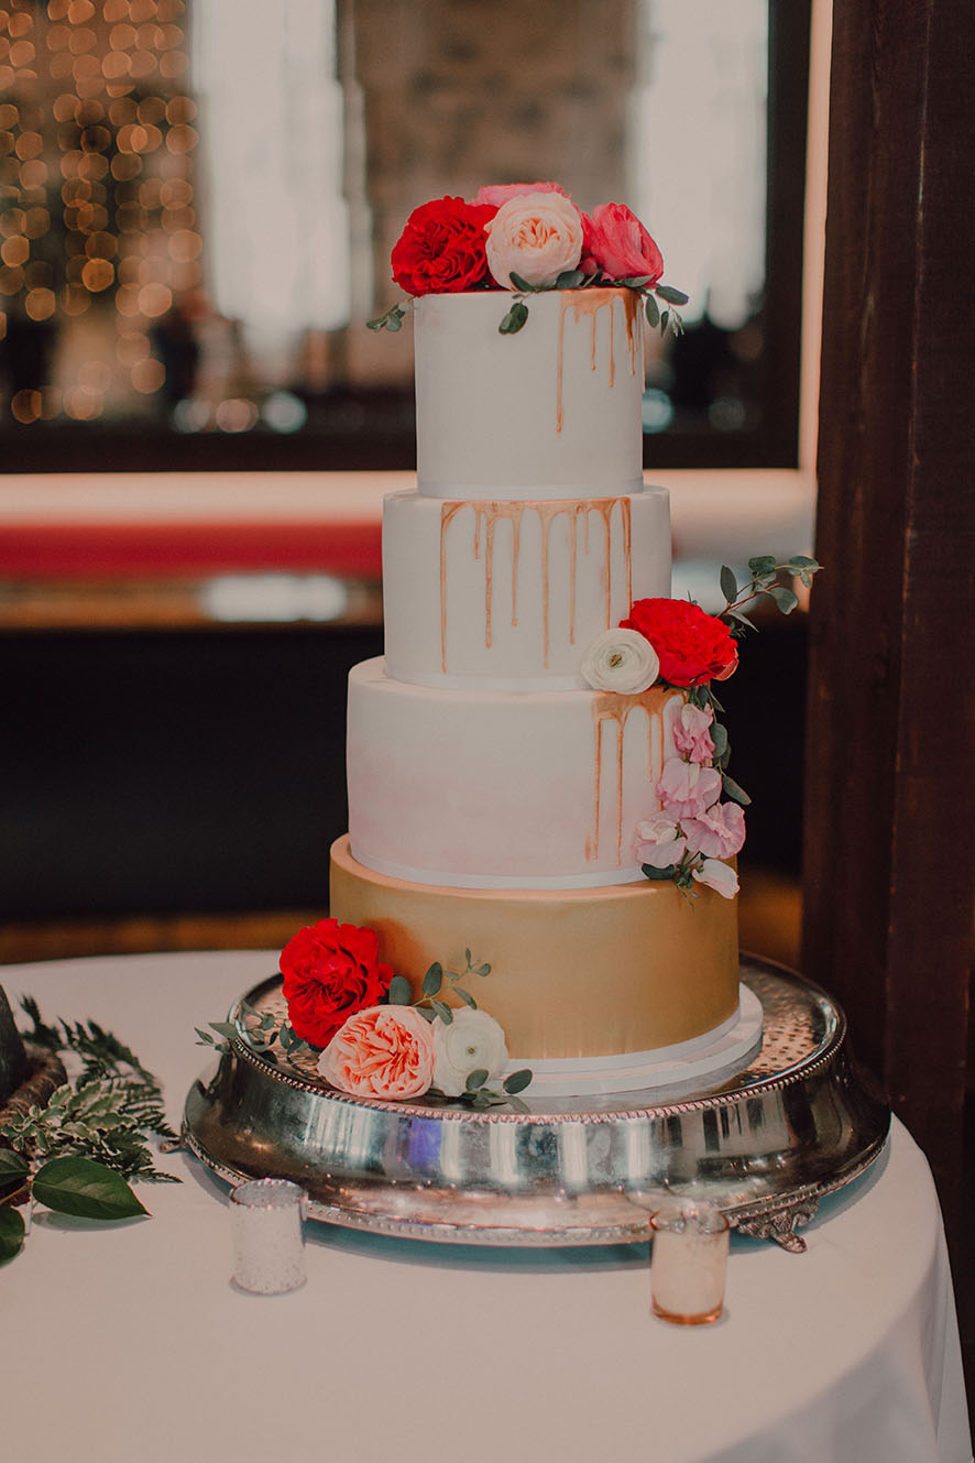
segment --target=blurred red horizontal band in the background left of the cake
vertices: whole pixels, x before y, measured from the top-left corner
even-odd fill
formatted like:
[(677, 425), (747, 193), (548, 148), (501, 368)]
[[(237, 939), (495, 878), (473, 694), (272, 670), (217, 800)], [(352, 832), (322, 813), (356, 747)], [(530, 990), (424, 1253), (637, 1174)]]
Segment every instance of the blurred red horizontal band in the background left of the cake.
[(70, 578), (246, 569), (379, 579), (382, 528), (358, 524), (15, 524), (0, 528), (0, 575)]

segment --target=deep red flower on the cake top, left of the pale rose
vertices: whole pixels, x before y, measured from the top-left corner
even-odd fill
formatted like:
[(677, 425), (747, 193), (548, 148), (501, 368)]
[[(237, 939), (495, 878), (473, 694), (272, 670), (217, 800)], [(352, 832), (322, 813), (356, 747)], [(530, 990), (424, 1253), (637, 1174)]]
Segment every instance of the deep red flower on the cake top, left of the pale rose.
[(484, 252), (484, 225), (497, 208), (439, 198), (406, 219), (392, 253), (393, 279), (406, 294), (453, 294), (493, 284)]

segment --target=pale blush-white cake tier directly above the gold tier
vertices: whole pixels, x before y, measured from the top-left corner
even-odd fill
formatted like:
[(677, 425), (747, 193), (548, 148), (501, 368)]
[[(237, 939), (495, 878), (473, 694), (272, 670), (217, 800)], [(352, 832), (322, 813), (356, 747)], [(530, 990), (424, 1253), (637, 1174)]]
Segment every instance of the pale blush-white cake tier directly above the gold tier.
[(642, 879), (636, 825), (683, 696), (437, 689), (349, 674), (354, 857), (455, 888), (585, 888)]

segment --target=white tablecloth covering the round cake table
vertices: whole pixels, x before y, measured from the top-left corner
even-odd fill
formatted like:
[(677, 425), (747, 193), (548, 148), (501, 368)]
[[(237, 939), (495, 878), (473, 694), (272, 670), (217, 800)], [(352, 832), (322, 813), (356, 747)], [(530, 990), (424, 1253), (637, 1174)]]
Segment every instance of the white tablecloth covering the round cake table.
[[(0, 967), (15, 1004), (92, 1018), (177, 1122), (265, 952)], [(70, 1463), (968, 1463), (941, 1219), (895, 1124), (792, 1255), (732, 1238), (726, 1314), (649, 1315), (645, 1246), (488, 1251), (308, 1226), (308, 1283), (229, 1285), (227, 1189), (187, 1154), (151, 1220), (44, 1216), (0, 1270), (1, 1456)]]

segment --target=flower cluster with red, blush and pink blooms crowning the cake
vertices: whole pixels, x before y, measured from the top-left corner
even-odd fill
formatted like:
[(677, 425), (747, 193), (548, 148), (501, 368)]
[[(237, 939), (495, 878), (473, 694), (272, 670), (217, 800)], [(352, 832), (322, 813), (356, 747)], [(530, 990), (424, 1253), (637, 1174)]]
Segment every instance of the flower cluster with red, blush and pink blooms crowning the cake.
[[(626, 285), (643, 296), (652, 326), (674, 332), (681, 331), (675, 306), (687, 303), (683, 290), (662, 284), (661, 250), (626, 203), (599, 203), (586, 214), (558, 183), (490, 184), (469, 202), (447, 196), (421, 203), (393, 246), (392, 269), (412, 298), (513, 291), (503, 335), (520, 331), (525, 297), (542, 290)], [(368, 328), (398, 331), (403, 315), (395, 304)]]

